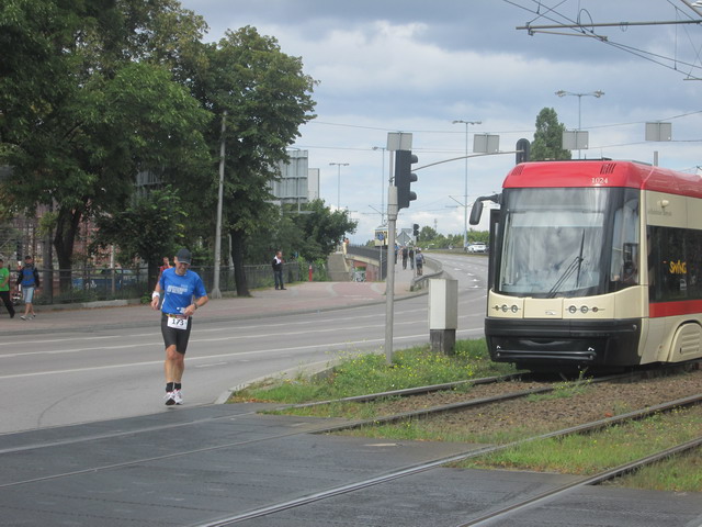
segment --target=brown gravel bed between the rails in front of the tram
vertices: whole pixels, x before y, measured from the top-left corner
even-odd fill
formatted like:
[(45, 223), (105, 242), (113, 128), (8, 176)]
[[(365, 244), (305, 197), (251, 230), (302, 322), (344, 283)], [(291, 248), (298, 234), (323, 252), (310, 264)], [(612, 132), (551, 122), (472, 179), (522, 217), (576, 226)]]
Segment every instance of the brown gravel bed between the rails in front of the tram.
[[(390, 401), (378, 407), (378, 415), (397, 414), (418, 408), (451, 404), (469, 399), (489, 397), (519, 390), (543, 386), (543, 383), (501, 382), (474, 386), (469, 392), (438, 392)], [(702, 393), (702, 371), (670, 377), (645, 379), (636, 382), (591, 383), (569, 396), (540, 397), (482, 405), (451, 412), (431, 419), (440, 419), (442, 429), (471, 430), (492, 434), (520, 427), (552, 430), (612, 417), (634, 410)]]

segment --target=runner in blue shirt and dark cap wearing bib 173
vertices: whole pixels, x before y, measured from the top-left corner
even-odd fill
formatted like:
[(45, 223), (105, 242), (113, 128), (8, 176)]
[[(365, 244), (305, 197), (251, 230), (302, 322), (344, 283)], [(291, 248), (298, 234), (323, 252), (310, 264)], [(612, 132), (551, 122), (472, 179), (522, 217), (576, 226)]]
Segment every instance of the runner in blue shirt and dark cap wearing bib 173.
[(183, 404), (182, 378), (185, 370), (185, 351), (193, 327), (193, 314), (210, 300), (202, 279), (191, 271), (190, 250), (182, 248), (176, 255), (176, 267), (168, 268), (161, 274), (154, 294), (151, 309), (161, 305), (161, 335), (166, 347), (166, 405)]

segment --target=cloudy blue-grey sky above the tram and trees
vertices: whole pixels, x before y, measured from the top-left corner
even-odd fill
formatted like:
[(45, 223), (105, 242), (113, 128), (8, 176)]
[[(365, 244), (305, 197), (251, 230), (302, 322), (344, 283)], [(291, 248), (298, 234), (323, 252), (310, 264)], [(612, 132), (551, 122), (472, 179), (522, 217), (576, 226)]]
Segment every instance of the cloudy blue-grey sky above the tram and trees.
[[(340, 204), (359, 221), (352, 243), (372, 239), (376, 211), (386, 206), (388, 156), (373, 147), (385, 147), (393, 132), (412, 134), (412, 152), (424, 166), (465, 155), (466, 125), (453, 121), (482, 122), (468, 126), (468, 154), (474, 134), (499, 135), (507, 153), (519, 138), (533, 139), (536, 115), (553, 108), (568, 130), (580, 119), (589, 132), (582, 157), (653, 162), (657, 152), (668, 168), (695, 172), (702, 165), (702, 81), (695, 80), (702, 78), (702, 27), (634, 25), (700, 20), (688, 4), (693, 0), (181, 3), (205, 18), (208, 41), (227, 29), (254, 26), (274, 36), (283, 53), (302, 57), (305, 74), (319, 81), (313, 96), (318, 116), (294, 146), (308, 150), (310, 168), (320, 169), (327, 204)], [(517, 29), (578, 22), (601, 38), (569, 29), (533, 35)], [(558, 90), (604, 96), (561, 98)], [(653, 121), (672, 123), (673, 141), (646, 142), (645, 123)], [(513, 165), (513, 154), (469, 158), (467, 201), (499, 191)], [(398, 228), (418, 223), (462, 233), (465, 161), (416, 173), (418, 199), (400, 211)]]

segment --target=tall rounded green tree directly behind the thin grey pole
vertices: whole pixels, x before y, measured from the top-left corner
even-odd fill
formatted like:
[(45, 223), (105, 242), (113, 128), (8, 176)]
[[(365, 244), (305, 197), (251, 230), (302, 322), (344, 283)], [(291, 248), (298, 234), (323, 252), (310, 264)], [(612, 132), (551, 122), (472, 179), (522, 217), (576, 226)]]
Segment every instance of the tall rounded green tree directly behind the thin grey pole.
[[(250, 26), (228, 31), (207, 46), (206, 57), (193, 93), (216, 115), (207, 134), (214, 157), (224, 122), (223, 225), (231, 236), (237, 294), (249, 295), (242, 267), (246, 243), (276, 214), (269, 182), (280, 176), (276, 164), (287, 159), (285, 148), (299, 136), (299, 126), (315, 116), (315, 81), (304, 75), (299, 58), (283, 54), (274, 38)], [(202, 181), (203, 188), (215, 181)]]

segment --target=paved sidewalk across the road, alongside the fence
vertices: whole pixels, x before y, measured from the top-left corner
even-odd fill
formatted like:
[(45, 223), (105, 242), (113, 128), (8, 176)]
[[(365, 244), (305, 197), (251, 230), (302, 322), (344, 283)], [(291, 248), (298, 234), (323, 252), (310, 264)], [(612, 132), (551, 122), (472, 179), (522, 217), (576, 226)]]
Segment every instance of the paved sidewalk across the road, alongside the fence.
[[(395, 298), (420, 294), (410, 291), (412, 271), (395, 270)], [(271, 314), (309, 313), (355, 305), (385, 302), (384, 282), (295, 282), (285, 291), (273, 288), (257, 290), (250, 298), (211, 299), (195, 317), (201, 322), (258, 318)], [(15, 306), (16, 315), (10, 319), (7, 313), (0, 318), (3, 335), (56, 333), (77, 329), (95, 330), (105, 327), (148, 327), (158, 321), (158, 314), (149, 305), (125, 305), (125, 301), (97, 303), (95, 307), (65, 305), (35, 305), (36, 318), (22, 321), (22, 305)], [(118, 305), (121, 304), (121, 305)]]

